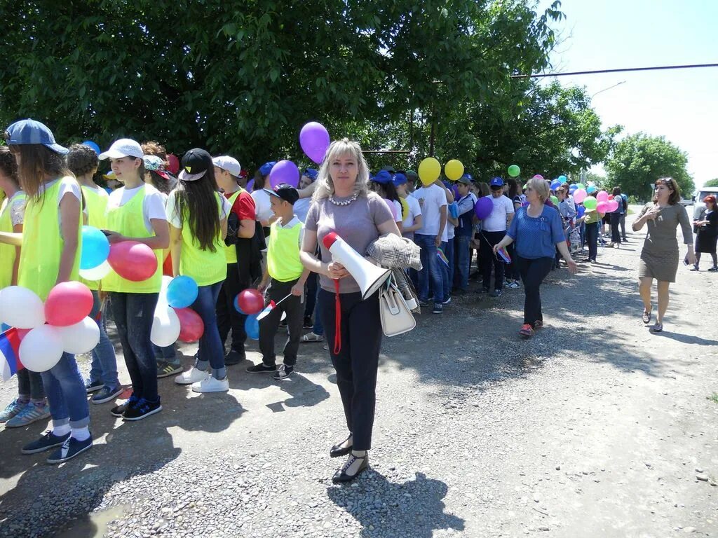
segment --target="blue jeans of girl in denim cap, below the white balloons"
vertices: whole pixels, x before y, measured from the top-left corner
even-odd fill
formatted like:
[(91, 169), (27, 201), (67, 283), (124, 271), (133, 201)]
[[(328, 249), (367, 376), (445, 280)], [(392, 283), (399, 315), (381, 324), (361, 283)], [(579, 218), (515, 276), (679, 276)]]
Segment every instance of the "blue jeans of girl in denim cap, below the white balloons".
[(53, 425), (70, 423), (70, 428), (84, 428), (90, 423), (88, 393), (75, 355), (63, 353), (60, 362), (42, 372)]

